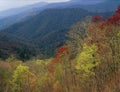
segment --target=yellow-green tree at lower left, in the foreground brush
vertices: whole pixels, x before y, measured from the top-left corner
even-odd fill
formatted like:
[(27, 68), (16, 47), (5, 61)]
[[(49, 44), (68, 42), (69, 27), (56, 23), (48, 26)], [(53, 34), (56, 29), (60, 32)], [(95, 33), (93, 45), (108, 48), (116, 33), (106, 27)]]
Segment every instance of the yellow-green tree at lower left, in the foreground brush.
[(28, 66), (19, 65), (13, 73), (13, 92), (34, 92), (36, 76)]

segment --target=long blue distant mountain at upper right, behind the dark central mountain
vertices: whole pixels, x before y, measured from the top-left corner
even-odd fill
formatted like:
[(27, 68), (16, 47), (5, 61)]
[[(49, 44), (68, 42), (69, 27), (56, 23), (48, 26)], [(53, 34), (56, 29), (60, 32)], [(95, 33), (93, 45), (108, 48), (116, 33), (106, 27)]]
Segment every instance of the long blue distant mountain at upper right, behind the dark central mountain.
[(49, 8), (82, 8), (89, 12), (113, 12), (120, 0), (71, 0), (64, 3), (48, 4)]

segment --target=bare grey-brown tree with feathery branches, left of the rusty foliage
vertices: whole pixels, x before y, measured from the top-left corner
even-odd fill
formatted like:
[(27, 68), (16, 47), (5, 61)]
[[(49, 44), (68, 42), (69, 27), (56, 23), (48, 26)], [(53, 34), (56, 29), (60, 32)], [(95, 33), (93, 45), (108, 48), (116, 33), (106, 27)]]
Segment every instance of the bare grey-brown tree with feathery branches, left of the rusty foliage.
[(92, 18), (87, 16), (82, 22), (78, 22), (73, 25), (68, 32), (68, 40), (66, 41), (66, 45), (72, 58), (75, 58), (81, 51), (82, 45), (86, 38), (87, 27), (91, 24), (91, 22)]

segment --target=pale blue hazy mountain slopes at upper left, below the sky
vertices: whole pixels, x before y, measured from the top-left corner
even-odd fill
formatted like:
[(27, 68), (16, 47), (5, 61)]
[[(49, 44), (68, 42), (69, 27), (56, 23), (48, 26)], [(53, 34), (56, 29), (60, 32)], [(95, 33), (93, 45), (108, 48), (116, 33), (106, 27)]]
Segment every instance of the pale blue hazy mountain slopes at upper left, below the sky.
[(0, 12), (0, 30), (14, 23), (30, 19), (32, 16), (44, 10), (46, 5), (47, 3), (37, 3)]

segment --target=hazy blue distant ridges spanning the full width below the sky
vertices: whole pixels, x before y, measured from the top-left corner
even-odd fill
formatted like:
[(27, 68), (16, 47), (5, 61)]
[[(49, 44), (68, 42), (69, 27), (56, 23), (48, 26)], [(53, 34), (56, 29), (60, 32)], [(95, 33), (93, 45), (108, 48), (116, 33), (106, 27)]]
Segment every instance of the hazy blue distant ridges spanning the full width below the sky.
[[(0, 11), (0, 18), (5, 18), (8, 16), (12, 16), (12, 15), (17, 15), (20, 13), (31, 13), (31, 12), (36, 12), (39, 10), (44, 10), (47, 8), (67, 8), (67, 7), (79, 7), (79, 8), (86, 8), (88, 11), (89, 9), (91, 10), (91, 8), (94, 7), (94, 10), (96, 12), (96, 10), (99, 10), (99, 8), (101, 7), (101, 11), (98, 12), (102, 12), (102, 11), (114, 11), (117, 6), (120, 4), (120, 0), (70, 0), (68, 2), (63, 2), (63, 3), (45, 3), (45, 2), (40, 2), (40, 3), (36, 3), (33, 5), (27, 5), (21, 8), (13, 8), (13, 9), (9, 9), (9, 10), (5, 10), (5, 11)], [(84, 6), (84, 7), (83, 7)], [(89, 7), (88, 7), (89, 6)], [(98, 8), (99, 7), (99, 8)], [(112, 9), (110, 9), (110, 7), (112, 7)], [(102, 10), (105, 9), (105, 10)]]

